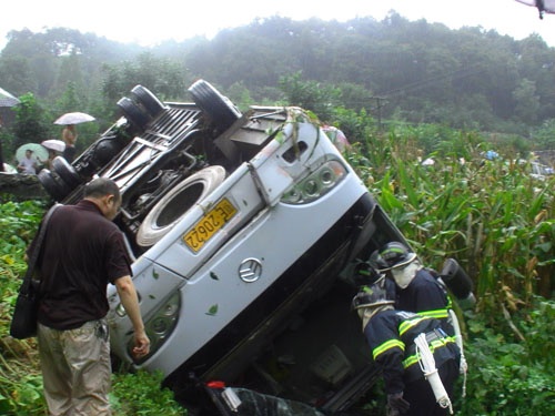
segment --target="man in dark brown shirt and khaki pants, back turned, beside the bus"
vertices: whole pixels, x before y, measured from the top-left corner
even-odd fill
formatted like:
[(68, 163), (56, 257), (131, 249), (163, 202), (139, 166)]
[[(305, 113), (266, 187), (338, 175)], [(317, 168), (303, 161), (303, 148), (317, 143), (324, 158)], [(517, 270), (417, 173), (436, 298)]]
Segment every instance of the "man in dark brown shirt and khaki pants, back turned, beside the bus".
[[(133, 354), (149, 354), (123, 236), (112, 220), (118, 185), (99, 177), (75, 205), (59, 206), (47, 224), (38, 341), (44, 396), (51, 416), (110, 416), (110, 339), (107, 286), (114, 284), (134, 328)], [(31, 248), (32, 248), (31, 243)]]

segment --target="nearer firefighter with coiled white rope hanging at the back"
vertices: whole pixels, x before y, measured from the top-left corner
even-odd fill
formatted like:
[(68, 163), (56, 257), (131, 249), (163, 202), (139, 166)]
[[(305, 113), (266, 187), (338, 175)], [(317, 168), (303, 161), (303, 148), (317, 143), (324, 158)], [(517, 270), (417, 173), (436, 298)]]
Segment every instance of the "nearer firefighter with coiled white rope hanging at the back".
[[(352, 308), (362, 319), (363, 333), (380, 366), (387, 394), (387, 416), (447, 415), (451, 397), (458, 376), (460, 349), (454, 339), (431, 316), (397, 311), (387, 296), (387, 280), (382, 278), (364, 287), (353, 298)], [(433, 355), (436, 372), (425, 372), (415, 339), (425, 337), (425, 346)], [(437, 375), (432, 384), (424, 376)], [(441, 399), (441, 392), (447, 395)], [(448, 403), (448, 406), (446, 405)], [(445, 406), (445, 407), (444, 407)]]

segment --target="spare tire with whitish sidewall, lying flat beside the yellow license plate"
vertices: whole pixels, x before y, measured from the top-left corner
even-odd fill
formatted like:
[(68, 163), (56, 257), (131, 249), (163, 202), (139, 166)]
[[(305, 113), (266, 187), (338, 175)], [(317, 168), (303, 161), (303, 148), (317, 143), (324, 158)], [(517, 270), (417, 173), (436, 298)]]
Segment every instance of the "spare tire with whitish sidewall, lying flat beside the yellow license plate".
[(137, 232), (137, 244), (142, 247), (154, 245), (224, 179), (222, 166), (209, 166), (181, 181), (147, 214)]

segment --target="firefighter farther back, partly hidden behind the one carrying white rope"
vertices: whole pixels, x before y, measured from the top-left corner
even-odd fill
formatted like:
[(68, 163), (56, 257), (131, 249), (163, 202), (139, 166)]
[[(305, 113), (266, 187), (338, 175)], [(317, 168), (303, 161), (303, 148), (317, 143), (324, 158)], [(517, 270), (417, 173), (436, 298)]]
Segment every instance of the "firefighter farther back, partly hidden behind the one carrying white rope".
[(395, 308), (440, 319), (450, 336), (455, 334), (448, 310), (447, 291), (416, 258), (416, 254), (398, 242), (391, 242), (373, 254), (380, 273), (395, 282)]

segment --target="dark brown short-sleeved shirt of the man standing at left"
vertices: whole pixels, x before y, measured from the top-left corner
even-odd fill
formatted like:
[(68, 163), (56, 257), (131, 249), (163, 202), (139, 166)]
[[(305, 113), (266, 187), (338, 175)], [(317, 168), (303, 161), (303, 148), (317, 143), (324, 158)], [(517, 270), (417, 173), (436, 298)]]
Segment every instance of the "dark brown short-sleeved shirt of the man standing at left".
[(39, 322), (56, 329), (104, 317), (108, 283), (131, 275), (121, 231), (84, 200), (52, 213), (38, 265)]

